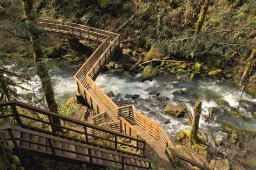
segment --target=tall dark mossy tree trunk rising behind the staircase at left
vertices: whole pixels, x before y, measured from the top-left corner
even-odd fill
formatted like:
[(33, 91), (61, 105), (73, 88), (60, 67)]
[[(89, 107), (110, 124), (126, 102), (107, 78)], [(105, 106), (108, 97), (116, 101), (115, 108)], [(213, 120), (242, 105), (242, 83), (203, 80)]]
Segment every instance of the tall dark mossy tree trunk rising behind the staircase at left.
[[(35, 16), (33, 16), (33, 14), (31, 13), (33, 9), (33, 0), (22, 0), (21, 2), (24, 9), (26, 24), (28, 24), (29, 28), (28, 34), (33, 47), (33, 60), (35, 61), (36, 65), (36, 73), (41, 80), (42, 89), (44, 91), (49, 110), (55, 113), (59, 113), (58, 105), (55, 101), (54, 92), (52, 89), (51, 78), (43, 62), (44, 53), (41, 47), (41, 42), (38, 39), (38, 25), (35, 21)], [(54, 124), (60, 125), (60, 120), (58, 118), (53, 117), (52, 121)], [(57, 127), (55, 128), (55, 130), (61, 131), (61, 128)]]

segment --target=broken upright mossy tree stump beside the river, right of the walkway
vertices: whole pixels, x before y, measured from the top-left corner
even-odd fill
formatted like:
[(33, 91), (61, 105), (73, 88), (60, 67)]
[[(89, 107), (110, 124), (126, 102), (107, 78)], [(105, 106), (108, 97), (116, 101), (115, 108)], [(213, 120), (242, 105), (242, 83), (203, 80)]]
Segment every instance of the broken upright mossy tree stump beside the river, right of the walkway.
[(193, 121), (192, 121), (192, 125), (191, 125), (191, 130), (190, 130), (189, 141), (190, 141), (190, 144), (192, 144), (192, 145), (195, 144), (195, 142), (197, 141), (197, 131), (198, 131), (198, 126), (199, 126), (201, 105), (202, 105), (202, 101), (199, 98), (197, 100), (196, 105), (194, 105)]

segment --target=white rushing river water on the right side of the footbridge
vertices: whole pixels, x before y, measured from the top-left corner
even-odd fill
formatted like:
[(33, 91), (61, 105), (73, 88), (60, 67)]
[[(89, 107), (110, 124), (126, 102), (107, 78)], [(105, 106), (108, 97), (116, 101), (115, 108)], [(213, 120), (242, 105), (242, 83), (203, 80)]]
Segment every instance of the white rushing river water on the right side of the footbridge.
[[(215, 99), (220, 98), (228, 102), (228, 107), (238, 107), (241, 90), (236, 90), (237, 87), (230, 83), (221, 83), (220, 81), (207, 79), (184, 79), (177, 81), (173, 75), (159, 76), (153, 81), (140, 81), (141, 74), (100, 74), (96, 80), (98, 86), (104, 92), (112, 91), (115, 96), (112, 98), (119, 105), (134, 104), (136, 108), (147, 117), (161, 124), (165, 131), (174, 137), (180, 130), (189, 130), (190, 126), (186, 125), (185, 118), (175, 118), (169, 114), (164, 113), (166, 104), (179, 104), (185, 103), (187, 110), (193, 113), (193, 106), (198, 97), (202, 98), (202, 112), (201, 114), (208, 114), (209, 107), (217, 107)], [(178, 89), (183, 89), (183, 93), (173, 93)], [(157, 91), (159, 96), (150, 95), (149, 91)], [(232, 93), (231, 93), (232, 92)], [(127, 99), (125, 94), (139, 94), (138, 99)], [(167, 98), (166, 98), (167, 97)], [(244, 93), (242, 99), (251, 101), (247, 105), (242, 105), (239, 108), (240, 112), (245, 117), (253, 119), (252, 113), (255, 111), (256, 99)], [(170, 119), (170, 123), (164, 124), (164, 119)], [(234, 115), (225, 113), (221, 114), (221, 121), (233, 126), (245, 128), (245, 130), (255, 131), (255, 123), (244, 121), (235, 117)], [(204, 120), (200, 119), (200, 126), (206, 128)], [(211, 126), (214, 126), (212, 124)], [(215, 124), (215, 126), (218, 126)]]

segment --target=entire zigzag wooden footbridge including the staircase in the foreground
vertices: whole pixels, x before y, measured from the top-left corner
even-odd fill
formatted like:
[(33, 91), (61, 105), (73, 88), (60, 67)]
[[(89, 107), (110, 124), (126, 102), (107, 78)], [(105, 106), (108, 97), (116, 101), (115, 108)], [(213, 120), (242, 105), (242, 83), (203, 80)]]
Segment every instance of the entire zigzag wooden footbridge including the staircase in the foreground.
[[(163, 165), (161, 169), (173, 169), (170, 160), (174, 158), (201, 167), (175, 152), (163, 127), (139, 113), (134, 105), (118, 107), (95, 83), (100, 71), (120, 48), (117, 33), (46, 19), (39, 19), (38, 24), (44, 31), (98, 44), (74, 76), (78, 92), (93, 111), (93, 124), (15, 100), (0, 103), (0, 107), (11, 110), (0, 119), (15, 120), (13, 125), (1, 129), (19, 154), (78, 165), (86, 163), (92, 167), (120, 164), (123, 169), (150, 169), (152, 159), (157, 159), (157, 164)], [(53, 118), (60, 119), (62, 125), (53, 124)], [(32, 127), (31, 123), (38, 126)], [(62, 132), (57, 133), (57, 128)]]

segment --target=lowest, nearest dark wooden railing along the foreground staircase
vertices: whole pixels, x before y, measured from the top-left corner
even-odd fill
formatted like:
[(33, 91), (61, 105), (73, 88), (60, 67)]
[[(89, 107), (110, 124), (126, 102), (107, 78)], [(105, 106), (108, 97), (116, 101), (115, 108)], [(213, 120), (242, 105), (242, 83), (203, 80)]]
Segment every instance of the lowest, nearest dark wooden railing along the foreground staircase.
[[(51, 154), (55, 157), (56, 156), (57, 157), (66, 157), (66, 155), (69, 155), (68, 158), (74, 159), (75, 161), (77, 160), (77, 158), (83, 158), (83, 160), (86, 160), (91, 165), (97, 164), (98, 160), (103, 160), (106, 162), (105, 164), (108, 164), (108, 165), (110, 165), (110, 164), (114, 165), (114, 163), (120, 164), (120, 165), (122, 165), (123, 169), (124, 169), (125, 165), (131, 166), (134, 168), (136, 168), (136, 167), (143, 168), (143, 169), (151, 168), (151, 161), (144, 159), (144, 158), (132, 157), (130, 155), (121, 154), (121, 153), (114, 152), (114, 151), (109, 151), (109, 150), (99, 148), (99, 147), (93, 147), (90, 145), (81, 144), (79, 142), (75, 142), (75, 141), (71, 141), (71, 140), (65, 140), (62, 138), (54, 137), (52, 135), (26, 130), (24, 128), (20, 128), (17, 126), (5, 126), (5, 127), (0, 127), (0, 128), (1, 128), (1, 130), (5, 130), (9, 133), (10, 138), (8, 138), (7, 140), (12, 140), (12, 142), (14, 144), (17, 144), (18, 143), (17, 141), (19, 141), (19, 143), (21, 143), (21, 142), (23, 143), (23, 145), (16, 145), (15, 147), (17, 149), (26, 149), (26, 150), (30, 151), (30, 148), (27, 146), (33, 146), (34, 149), (31, 152), (36, 152), (37, 149), (35, 149), (35, 148), (45, 147), (45, 148), (49, 148), (49, 149), (45, 149), (44, 151), (39, 150), (38, 152), (41, 152), (42, 154)], [(42, 143), (42, 142), (38, 142), (38, 141), (23, 139), (21, 137), (16, 137), (14, 134), (17, 132), (23, 133), (23, 135), (26, 135), (26, 136), (42, 138), (46, 142)], [(58, 143), (61, 143), (62, 145), (67, 145), (67, 146), (71, 145), (71, 146), (73, 146), (73, 148), (79, 147), (81, 149), (80, 149), (80, 151), (76, 151), (75, 149), (72, 150), (69, 148), (65, 149), (65, 148), (62, 148), (60, 145), (55, 145)], [(65, 155), (64, 155), (64, 153), (65, 153)], [(94, 153), (94, 154), (92, 154), (92, 153)], [(99, 154), (95, 154), (95, 153), (99, 153)], [(112, 159), (103, 158), (102, 157), (103, 153), (106, 154), (108, 157), (112, 157), (112, 158), (114, 158), (114, 156), (116, 156), (118, 159), (112, 160)], [(125, 161), (125, 159), (129, 159), (130, 161), (133, 161), (133, 162), (143, 161), (145, 164), (142, 164), (142, 165), (131, 164), (131, 162), (127, 162), (127, 161)]]

